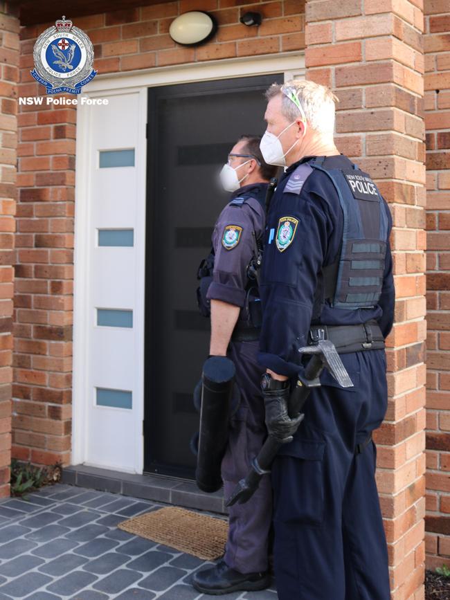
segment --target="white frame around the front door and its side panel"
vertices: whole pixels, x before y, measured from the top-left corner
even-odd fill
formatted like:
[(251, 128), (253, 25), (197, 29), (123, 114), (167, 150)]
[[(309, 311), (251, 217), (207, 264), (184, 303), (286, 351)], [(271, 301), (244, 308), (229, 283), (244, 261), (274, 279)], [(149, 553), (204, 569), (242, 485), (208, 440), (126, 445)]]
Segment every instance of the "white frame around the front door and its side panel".
[[(136, 419), (142, 424), (144, 418), (144, 284), (145, 284), (145, 188), (147, 165), (147, 140), (145, 125), (147, 122), (147, 88), (165, 84), (231, 79), (252, 75), (269, 75), (284, 73), (285, 81), (305, 76), (305, 56), (303, 53), (279, 53), (242, 59), (215, 60), (211, 62), (190, 63), (156, 69), (128, 71), (97, 75), (84, 86), (77, 107), (76, 123), (76, 170), (75, 170), (75, 248), (74, 248), (74, 304), (73, 304), (73, 391), (72, 391), (72, 457), (71, 464), (80, 464), (86, 457), (85, 405), (91, 398), (91, 390), (87, 389), (87, 348), (89, 347), (89, 316), (91, 307), (87, 306), (89, 298), (89, 280), (84, 274), (89, 273), (89, 246), (86, 244), (89, 224), (89, 169), (92, 157), (89, 148), (89, 124), (91, 110), (89, 105), (80, 104), (81, 98), (107, 98), (118, 93), (134, 92), (139, 96), (140, 137), (136, 147), (136, 169), (138, 170), (138, 219), (135, 231), (138, 246), (137, 261), (142, 277), (136, 282), (136, 311), (134, 312), (133, 329), (136, 334), (136, 354), (141, 360), (136, 364), (139, 387), (136, 397)], [(281, 82), (280, 82), (281, 83)], [(134, 401), (133, 401), (134, 403)], [(143, 473), (143, 428), (136, 428), (141, 435), (136, 437), (134, 448), (134, 472)]]

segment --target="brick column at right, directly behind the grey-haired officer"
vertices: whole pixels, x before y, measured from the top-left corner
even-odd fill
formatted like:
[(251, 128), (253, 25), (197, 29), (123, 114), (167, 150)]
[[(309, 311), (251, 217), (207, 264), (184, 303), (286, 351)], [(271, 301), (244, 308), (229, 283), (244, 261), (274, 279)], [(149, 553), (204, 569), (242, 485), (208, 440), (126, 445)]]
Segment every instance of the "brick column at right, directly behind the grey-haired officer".
[[(424, 123), (422, 0), (308, 0), (307, 77), (341, 100), (337, 144), (390, 203), (397, 302), (377, 483), (393, 600), (424, 597)], [(364, 508), (361, 507), (361, 510)]]

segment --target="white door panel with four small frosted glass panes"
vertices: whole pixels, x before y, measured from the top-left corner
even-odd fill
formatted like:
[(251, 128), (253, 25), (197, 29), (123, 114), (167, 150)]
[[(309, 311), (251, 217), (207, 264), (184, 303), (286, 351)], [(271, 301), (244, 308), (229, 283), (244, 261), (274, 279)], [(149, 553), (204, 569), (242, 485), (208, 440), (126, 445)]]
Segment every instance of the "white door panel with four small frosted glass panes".
[[(84, 393), (82, 462), (142, 472), (145, 97), (102, 94), (82, 107), (87, 135), (77, 156), (74, 336), (82, 341), (74, 376)], [(80, 108), (80, 107), (79, 107)], [(80, 161), (81, 165), (78, 164)], [(80, 197), (80, 193), (78, 193)], [(84, 214), (82, 214), (84, 210)], [(76, 317), (79, 317), (77, 319)], [(78, 368), (77, 368), (78, 367)]]

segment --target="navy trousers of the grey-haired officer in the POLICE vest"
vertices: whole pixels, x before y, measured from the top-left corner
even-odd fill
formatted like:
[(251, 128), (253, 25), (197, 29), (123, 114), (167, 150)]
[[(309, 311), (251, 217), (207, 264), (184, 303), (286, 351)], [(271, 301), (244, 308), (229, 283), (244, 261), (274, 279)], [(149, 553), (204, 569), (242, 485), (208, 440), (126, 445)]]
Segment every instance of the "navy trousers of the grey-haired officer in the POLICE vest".
[(389, 600), (375, 444), (357, 444), (387, 408), (384, 350), (341, 356), (354, 383), (324, 372), (294, 441), (272, 471), (274, 569), (280, 600)]

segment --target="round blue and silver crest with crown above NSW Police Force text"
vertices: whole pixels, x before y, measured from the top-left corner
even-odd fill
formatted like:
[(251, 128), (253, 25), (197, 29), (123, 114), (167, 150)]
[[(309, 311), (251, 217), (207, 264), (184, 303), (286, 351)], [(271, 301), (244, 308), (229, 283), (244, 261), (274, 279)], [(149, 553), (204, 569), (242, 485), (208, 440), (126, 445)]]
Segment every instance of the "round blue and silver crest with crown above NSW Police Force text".
[(30, 73), (47, 93), (80, 93), (97, 74), (91, 40), (64, 16), (39, 35), (33, 57), (35, 69)]

